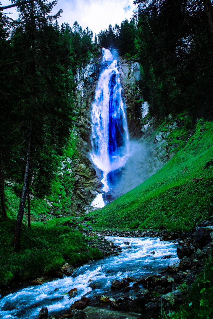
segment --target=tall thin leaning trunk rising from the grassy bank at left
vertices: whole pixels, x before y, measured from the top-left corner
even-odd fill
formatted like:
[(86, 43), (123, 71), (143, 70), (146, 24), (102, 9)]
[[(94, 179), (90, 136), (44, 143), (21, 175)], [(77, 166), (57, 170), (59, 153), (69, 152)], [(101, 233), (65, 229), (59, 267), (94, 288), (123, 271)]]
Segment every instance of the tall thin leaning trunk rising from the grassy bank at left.
[[(31, 13), (32, 13), (32, 24), (35, 26), (34, 21), (34, 7), (33, 2), (31, 2)], [(19, 203), (19, 211), (17, 214), (17, 220), (16, 220), (16, 226), (15, 226), (15, 232), (13, 237), (13, 247), (15, 251), (19, 249), (20, 244), (20, 238), (21, 238), (21, 224), (22, 219), (24, 215), (24, 208), (25, 208), (25, 202), (26, 202), (26, 196), (27, 196), (27, 189), (29, 184), (29, 166), (30, 166), (30, 160), (31, 160), (31, 145), (33, 140), (33, 123), (34, 123), (34, 110), (35, 110), (35, 59), (34, 59), (34, 32), (32, 32), (32, 64), (31, 64), (31, 70), (32, 70), (32, 86), (31, 86), (31, 113), (30, 113), (30, 132), (28, 136), (28, 146), (27, 146), (27, 159), (26, 159), (26, 167), (25, 167), (25, 174), (24, 174), (24, 182), (22, 187), (22, 193), (21, 193), (21, 199)]]

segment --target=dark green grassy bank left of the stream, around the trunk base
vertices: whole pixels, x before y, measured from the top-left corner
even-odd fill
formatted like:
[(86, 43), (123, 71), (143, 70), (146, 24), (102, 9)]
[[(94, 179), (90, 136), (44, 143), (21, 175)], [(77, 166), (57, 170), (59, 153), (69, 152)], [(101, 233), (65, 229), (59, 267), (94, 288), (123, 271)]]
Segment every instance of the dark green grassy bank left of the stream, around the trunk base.
[(32, 223), (31, 230), (22, 225), (20, 250), (14, 252), (15, 221), (0, 219), (0, 286), (8, 285), (12, 279), (44, 276), (65, 262), (73, 265), (103, 257), (98, 249), (87, 246), (79, 231), (63, 226), (64, 222), (65, 219), (52, 219), (49, 224)]

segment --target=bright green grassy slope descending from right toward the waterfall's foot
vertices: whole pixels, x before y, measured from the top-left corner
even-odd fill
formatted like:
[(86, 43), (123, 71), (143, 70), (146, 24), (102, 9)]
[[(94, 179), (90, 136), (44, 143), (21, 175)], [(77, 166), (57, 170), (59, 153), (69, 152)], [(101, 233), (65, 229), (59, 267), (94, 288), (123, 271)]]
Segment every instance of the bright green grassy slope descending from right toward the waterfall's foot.
[[(203, 132), (200, 130), (204, 129)], [(213, 122), (199, 120), (194, 134), (159, 171), (97, 210), (97, 227), (190, 230), (213, 213)], [(177, 132), (174, 131), (174, 135)], [(204, 177), (201, 182), (191, 178)]]

